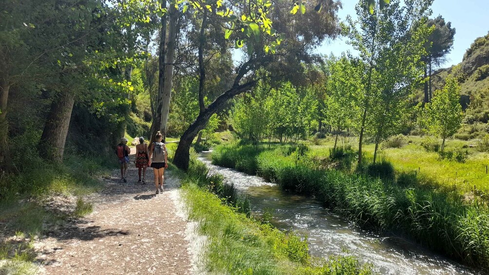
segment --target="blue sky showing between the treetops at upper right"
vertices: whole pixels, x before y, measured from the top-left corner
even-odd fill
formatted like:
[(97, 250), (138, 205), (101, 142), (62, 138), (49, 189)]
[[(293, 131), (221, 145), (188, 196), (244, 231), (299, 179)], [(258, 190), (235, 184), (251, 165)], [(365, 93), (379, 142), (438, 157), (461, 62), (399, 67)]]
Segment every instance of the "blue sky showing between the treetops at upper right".
[[(340, 21), (350, 14), (355, 17), (355, 5), (358, 0), (342, 0), (343, 9), (338, 12)], [(442, 15), (445, 21), (452, 22), (455, 27), (455, 40), (452, 51), (447, 55), (447, 62), (442, 67), (462, 62), (464, 53), (470, 44), (489, 31), (489, 0), (435, 0), (431, 6), (431, 18)], [(351, 50), (346, 39), (326, 41), (316, 49), (316, 52), (338, 56), (343, 51)]]

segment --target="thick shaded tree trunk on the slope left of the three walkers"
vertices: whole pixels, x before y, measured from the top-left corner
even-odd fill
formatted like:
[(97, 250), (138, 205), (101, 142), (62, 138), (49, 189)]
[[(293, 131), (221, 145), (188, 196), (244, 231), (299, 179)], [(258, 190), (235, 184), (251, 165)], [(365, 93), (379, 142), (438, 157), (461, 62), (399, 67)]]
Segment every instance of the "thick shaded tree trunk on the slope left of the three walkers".
[(39, 153), (44, 159), (55, 162), (63, 161), (69, 121), (74, 103), (75, 95), (70, 92), (63, 92), (51, 104), (51, 110), (47, 116), (41, 141), (39, 142)]

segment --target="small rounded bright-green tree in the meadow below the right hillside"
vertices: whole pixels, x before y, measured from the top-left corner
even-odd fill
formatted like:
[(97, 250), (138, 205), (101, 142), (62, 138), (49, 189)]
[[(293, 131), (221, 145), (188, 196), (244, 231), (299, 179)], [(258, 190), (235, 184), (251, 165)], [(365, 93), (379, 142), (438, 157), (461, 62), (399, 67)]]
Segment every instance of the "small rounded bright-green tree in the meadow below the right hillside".
[(443, 139), (442, 152), (445, 150), (445, 140), (457, 132), (463, 117), (460, 86), (450, 76), (443, 89), (434, 92), (433, 99), (425, 105), (422, 116), (428, 132)]

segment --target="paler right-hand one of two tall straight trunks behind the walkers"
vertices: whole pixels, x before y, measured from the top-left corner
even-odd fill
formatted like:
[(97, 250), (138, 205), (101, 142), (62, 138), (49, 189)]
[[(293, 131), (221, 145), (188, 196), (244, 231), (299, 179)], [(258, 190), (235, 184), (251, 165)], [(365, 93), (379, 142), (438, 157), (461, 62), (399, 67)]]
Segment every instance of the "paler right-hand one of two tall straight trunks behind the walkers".
[(173, 63), (175, 62), (175, 46), (178, 32), (178, 11), (175, 5), (170, 4), (169, 8), (170, 26), (168, 29), (168, 42), (166, 45), (165, 60), (165, 83), (163, 85), (163, 106), (161, 108), (161, 125), (160, 131), (163, 134), (163, 141), (166, 139), (166, 130), (168, 129), (168, 115), (170, 113), (170, 100), (172, 96), (173, 84)]

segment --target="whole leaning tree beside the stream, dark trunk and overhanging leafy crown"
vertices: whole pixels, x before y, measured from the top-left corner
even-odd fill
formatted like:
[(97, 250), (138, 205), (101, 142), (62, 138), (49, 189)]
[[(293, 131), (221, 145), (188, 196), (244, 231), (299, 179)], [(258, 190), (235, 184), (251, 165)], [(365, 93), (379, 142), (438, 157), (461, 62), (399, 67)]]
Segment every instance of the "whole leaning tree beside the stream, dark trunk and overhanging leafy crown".
[[(228, 23), (223, 25), (223, 27), (227, 29), (224, 36), (225, 38), (232, 38), (236, 48), (244, 48), (246, 50), (247, 61), (242, 63), (235, 70), (235, 78), (234, 81), (232, 81), (230, 88), (225, 90), (213, 103), (206, 106), (205, 109), (201, 109), (195, 122), (180, 138), (180, 143), (175, 152), (174, 163), (178, 168), (184, 170), (188, 168), (189, 148), (194, 137), (201, 129), (203, 129), (203, 127), (205, 127), (214, 113), (223, 109), (229, 99), (256, 85), (257, 78), (255, 73), (260, 68), (271, 64), (277, 65), (283, 62), (300, 63), (301, 60), (308, 57), (305, 49), (321, 41), (319, 38), (324, 38), (329, 34), (334, 35), (336, 33), (336, 28), (322, 28), (317, 26), (306, 27), (305, 25), (301, 25), (301, 21), (291, 20), (281, 21), (282, 25), (275, 23), (274, 27), (276, 27), (276, 29), (274, 29), (272, 28), (271, 18), (274, 16), (280, 17), (289, 15), (289, 9), (287, 8), (287, 12), (284, 12), (285, 10), (282, 7), (282, 10), (278, 11), (281, 6), (279, 4), (272, 6), (272, 2), (269, 0), (240, 0), (231, 2), (229, 5), (227, 5), (227, 2), (224, 3), (222, 1), (217, 1), (216, 3), (209, 2), (206, 4), (205, 8), (202, 8), (200, 4), (196, 4), (195, 2), (192, 5), (198, 13), (202, 14), (205, 10), (208, 10), (209, 16), (215, 18), (219, 18), (220, 16), (222, 21), (228, 21)], [(327, 12), (322, 15), (326, 20), (323, 21), (322, 24), (326, 24), (328, 27), (331, 24), (336, 24), (335, 12), (337, 11), (337, 6), (337, 3), (329, 3), (327, 5), (325, 8)], [(277, 9), (276, 13), (273, 12), (275, 8)], [(301, 8), (301, 12), (305, 12), (305, 7)], [(216, 15), (218, 15), (218, 17), (216, 17)], [(310, 16), (305, 18), (318, 19), (319, 16), (321, 15), (311, 13)], [(286, 22), (292, 23), (287, 24)], [(280, 49), (279, 45), (284, 39), (290, 40), (289, 46), (291, 49), (296, 47), (294, 51), (283, 51), (283, 49)], [(246, 47), (244, 47), (244, 45), (246, 45)], [(296, 55), (299, 48), (303, 53)], [(278, 56), (286, 58), (278, 58)], [(276, 68), (280, 67), (281, 66), (277, 66)], [(284, 67), (289, 68), (291, 66)], [(200, 76), (202, 77), (202, 74), (200, 74)], [(199, 97), (201, 98), (202, 95), (199, 95)]]

